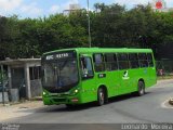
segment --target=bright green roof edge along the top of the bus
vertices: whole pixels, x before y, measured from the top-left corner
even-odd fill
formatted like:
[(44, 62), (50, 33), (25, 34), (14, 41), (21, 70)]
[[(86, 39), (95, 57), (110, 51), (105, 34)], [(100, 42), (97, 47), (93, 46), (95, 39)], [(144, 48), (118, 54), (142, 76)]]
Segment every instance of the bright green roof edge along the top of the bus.
[[(71, 48), (71, 49), (59, 49), (50, 52), (45, 52), (44, 54), (63, 52), (63, 51), (71, 51), (75, 50), (78, 53), (110, 53), (110, 52), (152, 52), (151, 49), (128, 49), (128, 48)], [(44, 55), (43, 54), (43, 55)]]

